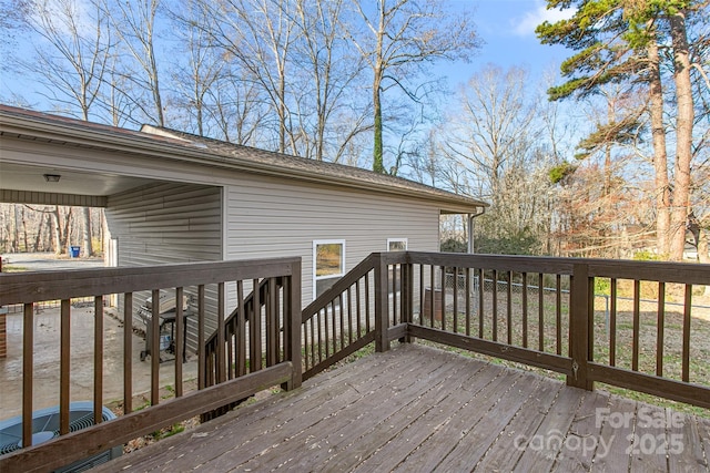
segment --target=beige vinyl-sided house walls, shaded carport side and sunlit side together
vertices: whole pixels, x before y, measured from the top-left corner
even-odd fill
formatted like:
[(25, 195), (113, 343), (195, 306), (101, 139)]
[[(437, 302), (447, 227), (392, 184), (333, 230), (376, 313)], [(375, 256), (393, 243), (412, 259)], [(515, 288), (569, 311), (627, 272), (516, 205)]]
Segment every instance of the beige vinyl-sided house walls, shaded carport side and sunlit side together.
[[(387, 250), (390, 239), (406, 239), (412, 250), (438, 250), (439, 209), (426, 203), (253, 175), (227, 182), (223, 189), (162, 183), (110, 196), (106, 220), (118, 240), (119, 266), (300, 256), (306, 306), (313, 300), (316, 240), (345, 243), (345, 273), (371, 253)], [(236, 304), (232, 286), (226, 313)], [(144, 327), (138, 309), (149, 296), (134, 295), (136, 327)], [(206, 298), (205, 329), (212, 333), (216, 287), (206, 288)], [(187, 323), (187, 345), (196, 348), (194, 319)]]

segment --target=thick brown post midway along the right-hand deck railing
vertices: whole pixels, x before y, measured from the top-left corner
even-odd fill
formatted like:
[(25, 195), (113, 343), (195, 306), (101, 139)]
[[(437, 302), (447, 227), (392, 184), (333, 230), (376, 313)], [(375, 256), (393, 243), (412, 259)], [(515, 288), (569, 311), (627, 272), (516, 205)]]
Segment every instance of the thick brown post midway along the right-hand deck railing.
[(590, 336), (594, 322), (594, 304), (590, 296), (589, 267), (575, 264), (572, 267), (570, 313), (569, 313), (569, 357), (572, 359), (572, 372), (567, 376), (567, 385), (594, 390), (594, 381), (588, 377), (587, 361), (591, 360)]

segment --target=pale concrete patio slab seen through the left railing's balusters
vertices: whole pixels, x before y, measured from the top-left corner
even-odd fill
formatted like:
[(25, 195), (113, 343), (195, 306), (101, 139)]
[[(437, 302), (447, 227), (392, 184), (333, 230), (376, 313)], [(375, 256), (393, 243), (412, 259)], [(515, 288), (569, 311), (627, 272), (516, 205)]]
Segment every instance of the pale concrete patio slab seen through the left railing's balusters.
[[(106, 309), (109, 312), (110, 309)], [(123, 399), (123, 323), (104, 315), (104, 405)], [(0, 420), (22, 412), (22, 313), (9, 313), (8, 357), (0, 359)], [(93, 399), (93, 307), (71, 311), (71, 401)], [(145, 348), (142, 337), (133, 335), (133, 394), (150, 391), (151, 363), (140, 361)], [(40, 309), (34, 316), (34, 383), (33, 410), (59, 404), (59, 308)], [(161, 387), (174, 385), (174, 360), (161, 363)], [(196, 356), (189, 354), (183, 363), (183, 379), (196, 379)], [(134, 409), (139, 405), (134, 405)]]

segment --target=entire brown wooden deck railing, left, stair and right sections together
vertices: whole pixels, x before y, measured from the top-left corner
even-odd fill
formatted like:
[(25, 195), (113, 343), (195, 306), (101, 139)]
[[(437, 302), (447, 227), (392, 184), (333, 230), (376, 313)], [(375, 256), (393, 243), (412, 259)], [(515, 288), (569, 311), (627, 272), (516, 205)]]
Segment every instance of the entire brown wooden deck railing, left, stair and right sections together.
[[(0, 306), (22, 304), (24, 310), (24, 446), (0, 456), (0, 471), (52, 470), (261, 389), (297, 387), (302, 378), (367, 345), (386, 351), (397, 339), (412, 342), (419, 338), (548, 369), (582, 389), (608, 383), (710, 408), (708, 340), (697, 333), (702, 323), (710, 323), (710, 315), (700, 313), (692, 304), (694, 294), (710, 286), (708, 265), (372, 254), (303, 311), (301, 274), (300, 259), (281, 258), (0, 275)], [(207, 285), (216, 287), (217, 313), (207, 313)], [(209, 348), (199, 350), (199, 387), (204, 389), (183, 392), (182, 363), (174, 362), (174, 399), (163, 402), (160, 360), (152, 357), (150, 407), (135, 410), (131, 401), (133, 361), (125, 354), (125, 414), (64, 435), (69, 432), (72, 379), (71, 299), (90, 296), (94, 300), (95, 410), (104, 402), (104, 297), (119, 294), (124, 319), (131, 320), (133, 294), (152, 291), (152, 312), (158, 313), (161, 289), (174, 290), (175, 300), (182, 300), (183, 291), (195, 295), (199, 347)], [(32, 374), (33, 307), (42, 300), (61, 301), (58, 363), (62, 435), (29, 446), (32, 392), (37, 388)], [(646, 300), (655, 304), (645, 307)], [(673, 309), (666, 304), (671, 300)], [(178, 347), (185, 330), (180, 306), (175, 317)], [(233, 317), (225, 317), (227, 307), (236, 307)], [(681, 307), (682, 313), (676, 307)], [(207, 317), (217, 323), (209, 341), (204, 329)], [(245, 318), (247, 323), (242, 322)], [(156, 318), (151, 323), (150, 346), (158, 347)], [(122, 342), (124, 353), (131, 353), (130, 326), (124, 328)]]

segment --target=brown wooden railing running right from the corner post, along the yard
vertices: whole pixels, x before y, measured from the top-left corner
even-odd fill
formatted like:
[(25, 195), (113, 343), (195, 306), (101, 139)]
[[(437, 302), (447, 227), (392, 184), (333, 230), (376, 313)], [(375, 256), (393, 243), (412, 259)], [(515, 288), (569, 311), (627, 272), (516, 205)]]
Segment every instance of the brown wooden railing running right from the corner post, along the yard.
[[(413, 290), (419, 295), (425, 292), (425, 286), (433, 286), (435, 275), (453, 274), (454, 288), (449, 289), (442, 287), (437, 289), (440, 294), (437, 295), (437, 307), (435, 307), (435, 298), (433, 295), (426, 300), (427, 305), (422, 302), (419, 307), (418, 321), (408, 321), (408, 333), (412, 336), (426, 338), (440, 343), (452, 345), (459, 348), (466, 348), (471, 351), (483, 352), (489, 356), (496, 356), (498, 358), (509, 359), (517, 362), (527, 363), (554, 371), (561, 372), (567, 376), (567, 382), (570, 385), (579, 387), (582, 389), (594, 389), (595, 382), (605, 382), (609, 384), (616, 384), (622, 388), (632, 389), (641, 392), (646, 392), (653, 395), (659, 395), (668, 399), (678, 400), (681, 402), (689, 402), (696, 405), (710, 408), (710, 383), (707, 380), (693, 380), (689, 376), (689, 366), (691, 363), (690, 357), (690, 331), (691, 331), (691, 288), (692, 286), (710, 286), (710, 265), (697, 265), (687, 263), (661, 263), (661, 261), (630, 261), (630, 260), (609, 260), (609, 259), (589, 259), (589, 258), (546, 258), (546, 257), (526, 257), (526, 256), (498, 256), (498, 255), (460, 255), (460, 254), (427, 254), (427, 253), (407, 253), (407, 264), (418, 266), (422, 270), (422, 276)], [(465, 271), (466, 286), (470, 286), (471, 271), (479, 280), (477, 294), (466, 295), (466, 301), (459, 302), (460, 296), (457, 296), (457, 280), (462, 270)], [(425, 281), (424, 273), (430, 275), (430, 281), (427, 278)], [(491, 294), (484, 291), (484, 271), (491, 278)], [(524, 327), (523, 341), (519, 343), (510, 343), (510, 340), (501, 340), (500, 333), (496, 332), (496, 325), (506, 323), (507, 328), (510, 328), (513, 321), (511, 310), (515, 310), (511, 306), (511, 275), (523, 278), (520, 284), (523, 296), (525, 300), (520, 302), (520, 310), (525, 313), (521, 315), (520, 322)], [(556, 340), (557, 351), (546, 351), (540, 349), (544, 346), (545, 337), (542, 330), (547, 327), (538, 329), (539, 342), (538, 347), (528, 346), (529, 340), (527, 337), (527, 323), (530, 299), (528, 296), (528, 281), (527, 275), (538, 275), (538, 280), (542, 281), (544, 275), (556, 278), (556, 300), (554, 302), (554, 310), (556, 313), (548, 316), (555, 316), (556, 318), (556, 335), (552, 336)], [(569, 295), (567, 302), (561, 301), (560, 297), (560, 277), (569, 279)], [(635, 294), (631, 298), (633, 304), (633, 327), (632, 327), (632, 343), (631, 354), (633, 363), (630, 368), (621, 368), (615, 366), (613, 361), (602, 362), (595, 353), (600, 348), (599, 328), (595, 326), (595, 317), (598, 317), (599, 309), (595, 307), (595, 280), (602, 278), (610, 280), (611, 294), (611, 325), (609, 329), (608, 343), (609, 352), (613, 353), (611, 357), (616, 357), (616, 311), (618, 298), (618, 280), (632, 281)], [(656, 350), (656, 369), (653, 372), (642, 372), (639, 368), (639, 353), (641, 351), (639, 338), (640, 331), (640, 285), (653, 284), (658, 285), (658, 291), (660, 294), (656, 308), (658, 322), (656, 325), (657, 340), (650, 349)], [(505, 291), (498, 291), (498, 285), (503, 284), (507, 289)], [(668, 378), (665, 374), (665, 361), (663, 361), (663, 331), (665, 331), (665, 315), (666, 315), (666, 284), (676, 284), (684, 286), (684, 301), (681, 304), (683, 307), (683, 323), (682, 323), (682, 379)], [(434, 291), (433, 288), (427, 290)], [(544, 308), (544, 288), (538, 287), (538, 300), (534, 304), (538, 306), (539, 320), (544, 320), (546, 316), (546, 308)], [(554, 289), (555, 290), (555, 289)], [(564, 289), (567, 291), (568, 289)], [(408, 290), (408, 297), (412, 292)], [(550, 295), (552, 296), (552, 295)], [(456, 315), (452, 315), (452, 307), (447, 306), (445, 299), (454, 299), (450, 305), (456, 309), (457, 304), (463, 304), (466, 310), (465, 319), (469, 319), (469, 312), (473, 308), (477, 312), (477, 317), (480, 319), (479, 330), (469, 330), (469, 326), (466, 327), (466, 333), (460, 333), (455, 327), (446, 327), (446, 313), (453, 317), (453, 323), (456, 325)], [(440, 306), (439, 306), (440, 301)], [(564, 307), (562, 307), (564, 306)], [(460, 307), (460, 306), (459, 306)], [(567, 318), (562, 317), (562, 310), (569, 309)], [(414, 310), (414, 309), (413, 309)], [(460, 309), (458, 309), (460, 310)], [(423, 311), (430, 313), (430, 321), (425, 320), (422, 317)], [(438, 326), (434, 320), (434, 312), (437, 311), (445, 313), (442, 323)], [(500, 317), (500, 312), (504, 317)], [(407, 313), (403, 317), (413, 317), (414, 313)], [(484, 337), (484, 325), (488, 323), (493, 326), (491, 338)], [(608, 322), (609, 323), (609, 322)], [(439, 327), (440, 326), (440, 327)], [(564, 326), (564, 327), (562, 327)], [(562, 330), (564, 328), (564, 330)], [(470, 333), (473, 332), (473, 335)], [(477, 335), (477, 336), (476, 336)], [(510, 331), (508, 330), (508, 338)], [(567, 345), (567, 350), (564, 352), (561, 346)], [(612, 358), (613, 360), (613, 358)], [(667, 363), (667, 362), (666, 362)], [(699, 383), (698, 381), (701, 381)]]

